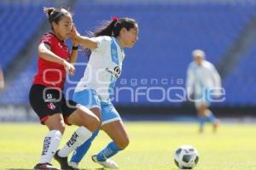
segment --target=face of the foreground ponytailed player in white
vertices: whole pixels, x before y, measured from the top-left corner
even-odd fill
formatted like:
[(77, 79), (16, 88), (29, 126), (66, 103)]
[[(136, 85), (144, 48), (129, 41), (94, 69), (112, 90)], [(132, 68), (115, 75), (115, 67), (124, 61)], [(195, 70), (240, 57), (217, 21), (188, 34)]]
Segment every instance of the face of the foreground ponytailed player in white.
[(135, 25), (135, 27), (131, 28), (129, 31), (125, 29), (125, 33), (124, 33), (125, 46), (124, 47), (132, 48), (135, 42), (137, 42), (137, 40), (138, 40), (137, 24)]

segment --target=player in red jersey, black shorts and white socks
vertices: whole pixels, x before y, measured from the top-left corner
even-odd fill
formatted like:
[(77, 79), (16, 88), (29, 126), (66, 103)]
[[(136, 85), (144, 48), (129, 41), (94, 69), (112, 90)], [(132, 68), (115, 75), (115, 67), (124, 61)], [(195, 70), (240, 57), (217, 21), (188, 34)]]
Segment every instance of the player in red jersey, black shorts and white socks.
[[(52, 31), (44, 34), (38, 45), (38, 73), (34, 77), (29, 94), (32, 109), (38, 114), (42, 124), (49, 128), (44, 137), (41, 161), (34, 169), (58, 169), (50, 164), (55, 157), (61, 169), (68, 166), (67, 156), (100, 125), (99, 118), (82, 105), (65, 99), (62, 94), (66, 72), (73, 75), (73, 63), (77, 59), (78, 42), (73, 40), (70, 53), (65, 39), (74, 31), (72, 14), (65, 8), (44, 8)], [(57, 150), (65, 130), (65, 123), (79, 128), (61, 150)], [(57, 151), (56, 151), (57, 150)]]

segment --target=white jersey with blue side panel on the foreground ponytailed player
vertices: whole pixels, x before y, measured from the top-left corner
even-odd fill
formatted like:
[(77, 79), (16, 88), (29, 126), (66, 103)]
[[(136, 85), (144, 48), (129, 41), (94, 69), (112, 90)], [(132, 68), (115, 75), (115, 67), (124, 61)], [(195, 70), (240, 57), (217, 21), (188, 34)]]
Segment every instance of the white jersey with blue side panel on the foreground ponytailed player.
[(97, 48), (92, 50), (84, 77), (79, 81), (75, 92), (92, 88), (102, 101), (109, 101), (109, 95), (121, 74), (125, 54), (114, 37), (94, 38), (98, 43)]

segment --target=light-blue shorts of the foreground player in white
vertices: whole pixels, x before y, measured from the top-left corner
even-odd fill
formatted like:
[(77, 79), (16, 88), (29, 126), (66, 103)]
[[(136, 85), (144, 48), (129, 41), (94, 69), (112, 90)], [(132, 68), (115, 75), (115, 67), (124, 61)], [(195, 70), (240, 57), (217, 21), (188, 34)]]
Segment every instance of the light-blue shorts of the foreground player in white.
[(73, 94), (73, 101), (84, 105), (88, 109), (99, 108), (102, 110), (102, 125), (121, 120), (118, 111), (115, 110), (113, 104), (109, 102), (102, 101), (100, 97), (96, 94), (94, 89), (84, 89), (80, 92), (75, 92)]

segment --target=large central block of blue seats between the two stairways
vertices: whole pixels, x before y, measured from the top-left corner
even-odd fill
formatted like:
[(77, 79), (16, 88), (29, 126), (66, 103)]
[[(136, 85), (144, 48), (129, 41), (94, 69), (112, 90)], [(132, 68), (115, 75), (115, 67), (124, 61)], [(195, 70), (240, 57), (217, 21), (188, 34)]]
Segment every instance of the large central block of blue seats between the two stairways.
[[(125, 59), (121, 78), (125, 78), (127, 83), (122, 84), (119, 81), (117, 87), (121, 88), (125, 85), (132, 87), (132, 81), (145, 78), (148, 83), (144, 87), (149, 88), (153, 85), (164, 87), (166, 90), (174, 86), (184, 87), (184, 81), (182, 84), (177, 82), (179, 79), (184, 80), (186, 68), (191, 61), (190, 52), (194, 48), (204, 49), (207, 52), (207, 59), (217, 64), (255, 14), (254, 7), (251, 3), (233, 5), (157, 3), (125, 4), (124, 6), (104, 4), (98, 6), (79, 1), (74, 8), (74, 20), (79, 31), (84, 31), (84, 28), (93, 30), (99, 24), (99, 20), (108, 20), (113, 15), (122, 14), (121, 16), (136, 18), (141, 29), (139, 41), (132, 50), (126, 51), (127, 59)], [(101, 13), (101, 11), (104, 12)], [(152, 78), (157, 78), (158, 83), (151, 83)], [(161, 84), (160, 80), (165, 78), (168, 78), (169, 83)], [(135, 91), (139, 86), (142, 86), (140, 82), (132, 89)], [(161, 90), (151, 90), (149, 95), (152, 99), (161, 99), (163, 97), (161, 92)], [(147, 93), (147, 90), (142, 93)], [(172, 91), (170, 94), (172, 99), (177, 99), (176, 93), (182, 95), (183, 92), (178, 89)], [(131, 98), (129, 90), (122, 91), (118, 105), (131, 105)], [(182, 105), (182, 102), (170, 102), (168, 99), (149, 104), (146, 98), (141, 96), (138, 96), (138, 102), (135, 100), (132, 105)], [(223, 105), (229, 104), (233, 105), (227, 100)]]

